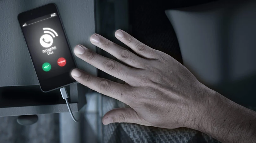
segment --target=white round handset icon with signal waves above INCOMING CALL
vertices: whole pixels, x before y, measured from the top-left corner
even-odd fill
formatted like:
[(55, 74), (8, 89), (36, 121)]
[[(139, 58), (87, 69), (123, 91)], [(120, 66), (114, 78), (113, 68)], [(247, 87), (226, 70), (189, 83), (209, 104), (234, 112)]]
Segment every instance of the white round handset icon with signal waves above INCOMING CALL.
[[(56, 31), (54, 31), (51, 28), (43, 28), (43, 30), (44, 30), (44, 33), (46, 33), (46, 34), (41, 36), (40, 44), (45, 48), (51, 47), (53, 44), (53, 38), (55, 38), (55, 36), (58, 36), (58, 34)], [(46, 30), (48, 30), (48, 31), (46, 31)]]

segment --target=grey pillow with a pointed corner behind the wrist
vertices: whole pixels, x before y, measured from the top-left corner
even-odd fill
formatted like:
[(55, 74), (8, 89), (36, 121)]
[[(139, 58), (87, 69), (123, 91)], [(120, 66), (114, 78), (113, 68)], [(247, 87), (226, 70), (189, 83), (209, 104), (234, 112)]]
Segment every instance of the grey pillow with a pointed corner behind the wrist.
[(255, 107), (256, 1), (216, 1), (167, 10), (184, 65), (204, 84)]

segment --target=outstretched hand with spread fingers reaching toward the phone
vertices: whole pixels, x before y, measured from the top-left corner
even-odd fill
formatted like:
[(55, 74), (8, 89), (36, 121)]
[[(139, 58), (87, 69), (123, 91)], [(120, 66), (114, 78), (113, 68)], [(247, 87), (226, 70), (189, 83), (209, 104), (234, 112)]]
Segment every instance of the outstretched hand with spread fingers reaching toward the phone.
[(79, 69), (72, 71), (72, 77), (79, 83), (131, 107), (109, 111), (103, 117), (103, 124), (128, 122), (161, 128), (191, 128), (191, 124), (196, 124), (208, 102), (205, 95), (208, 88), (171, 56), (122, 30), (117, 30), (115, 36), (142, 58), (98, 34), (91, 36), (91, 43), (130, 67), (82, 45), (75, 47), (76, 56), (126, 82), (122, 85)]

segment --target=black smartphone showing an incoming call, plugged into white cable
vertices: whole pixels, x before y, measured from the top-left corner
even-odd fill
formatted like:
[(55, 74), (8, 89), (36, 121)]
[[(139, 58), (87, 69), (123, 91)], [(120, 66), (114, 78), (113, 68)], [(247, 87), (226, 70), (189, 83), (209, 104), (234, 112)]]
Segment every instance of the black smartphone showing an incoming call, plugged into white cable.
[(49, 3), (18, 15), (34, 70), (43, 92), (70, 85), (77, 67), (56, 4)]

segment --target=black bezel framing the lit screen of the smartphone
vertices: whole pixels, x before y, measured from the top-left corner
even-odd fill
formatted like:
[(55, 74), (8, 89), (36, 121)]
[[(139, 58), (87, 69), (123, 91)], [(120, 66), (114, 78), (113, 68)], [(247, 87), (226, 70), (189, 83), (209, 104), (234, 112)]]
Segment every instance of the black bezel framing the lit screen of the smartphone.
[[(19, 24), (20, 24), (20, 28), (22, 30), (22, 25), (25, 22), (27, 22), (29, 20), (32, 20), (32, 19), (35, 19), (35, 18), (39, 18), (39, 17), (47, 15), (47, 14), (52, 14), (52, 13), (57, 13), (58, 16), (59, 16), (61, 27), (62, 27), (63, 32), (65, 33), (66, 42), (68, 43), (69, 51), (72, 55), (73, 63), (75, 65), (75, 68), (77, 68), (75, 59), (73, 57), (73, 54), (72, 54), (72, 51), (71, 51), (71, 48), (70, 48), (70, 44), (68, 42), (68, 38), (66, 36), (65, 29), (64, 29), (63, 24), (62, 24), (62, 20), (61, 20), (57, 5), (55, 3), (49, 3), (49, 4), (46, 4), (46, 5), (37, 7), (37, 8), (30, 9), (28, 11), (22, 12), (22, 13), (18, 14), (17, 18), (18, 18), (18, 21), (19, 21)], [(23, 31), (22, 31), (22, 35), (23, 35)], [(24, 35), (23, 35), (23, 38), (26, 41)], [(26, 45), (27, 45), (27, 41), (26, 41)], [(31, 53), (29, 51), (29, 48), (28, 48), (28, 52), (30, 54), (30, 59), (33, 63), (33, 68), (34, 68), (34, 62), (31, 58)], [(34, 70), (35, 70), (35, 68), (34, 68)], [(64, 73), (64, 74), (61, 74), (61, 75), (58, 75), (58, 76), (55, 76), (53, 78), (49, 78), (47, 80), (39, 80), (37, 73), (36, 72), (35, 73), (36, 73), (36, 76), (37, 76), (37, 80), (39, 81), (39, 85), (40, 85), (41, 90), (43, 92), (49, 92), (49, 91), (53, 91), (53, 90), (65, 87), (65, 86), (70, 85), (72, 83), (75, 83), (76, 80), (74, 80), (72, 78), (71, 71), (67, 72), (67, 73)]]

